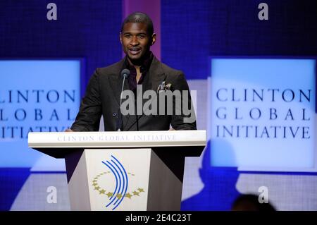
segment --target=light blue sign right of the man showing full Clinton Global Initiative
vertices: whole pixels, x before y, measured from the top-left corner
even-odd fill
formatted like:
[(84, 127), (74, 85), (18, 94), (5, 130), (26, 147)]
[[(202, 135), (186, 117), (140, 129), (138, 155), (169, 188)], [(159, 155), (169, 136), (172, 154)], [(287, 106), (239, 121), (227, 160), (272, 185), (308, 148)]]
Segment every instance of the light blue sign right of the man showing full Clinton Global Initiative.
[(211, 59), (211, 165), (316, 171), (316, 61)]

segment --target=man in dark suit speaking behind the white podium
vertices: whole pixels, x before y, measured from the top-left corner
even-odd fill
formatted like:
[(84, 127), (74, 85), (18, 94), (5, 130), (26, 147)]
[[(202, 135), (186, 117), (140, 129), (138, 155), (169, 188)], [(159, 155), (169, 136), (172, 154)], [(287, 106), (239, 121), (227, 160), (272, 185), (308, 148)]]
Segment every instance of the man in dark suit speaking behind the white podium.
[(185, 75), (150, 51), (156, 42), (151, 18), (130, 14), (123, 20), (120, 42), (125, 57), (94, 71), (75, 122), (66, 131), (98, 131), (101, 116), (106, 131), (196, 130)]

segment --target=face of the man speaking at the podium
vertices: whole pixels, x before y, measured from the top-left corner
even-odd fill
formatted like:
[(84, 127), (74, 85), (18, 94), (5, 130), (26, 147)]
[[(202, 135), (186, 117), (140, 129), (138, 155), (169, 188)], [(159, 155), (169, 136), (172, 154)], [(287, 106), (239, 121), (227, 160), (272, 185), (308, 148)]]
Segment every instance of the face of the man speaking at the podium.
[(156, 35), (149, 37), (147, 25), (144, 23), (125, 23), (123, 31), (120, 33), (123, 51), (132, 63), (142, 60), (155, 40)]

